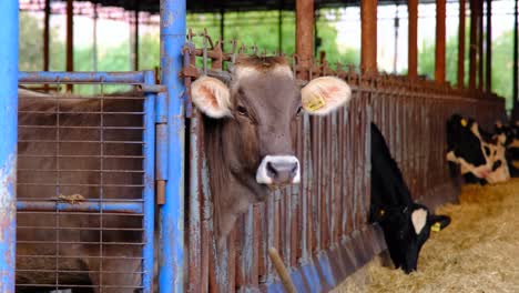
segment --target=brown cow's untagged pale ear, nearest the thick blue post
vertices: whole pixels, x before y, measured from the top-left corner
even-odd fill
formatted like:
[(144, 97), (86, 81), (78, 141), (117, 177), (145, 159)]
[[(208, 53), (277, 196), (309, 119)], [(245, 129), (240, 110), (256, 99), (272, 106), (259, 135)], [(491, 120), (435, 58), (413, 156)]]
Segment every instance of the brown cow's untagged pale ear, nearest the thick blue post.
[(220, 80), (201, 77), (191, 84), (191, 99), (207, 117), (220, 119), (231, 117), (231, 93)]

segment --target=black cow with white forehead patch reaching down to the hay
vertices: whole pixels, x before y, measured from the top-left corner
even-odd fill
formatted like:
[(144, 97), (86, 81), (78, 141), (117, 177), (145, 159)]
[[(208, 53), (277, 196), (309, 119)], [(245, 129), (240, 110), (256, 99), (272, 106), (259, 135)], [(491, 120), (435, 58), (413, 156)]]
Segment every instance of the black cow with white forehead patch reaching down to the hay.
[(450, 223), (449, 216), (435, 215), (427, 206), (413, 201), (385, 139), (374, 123), (370, 222), (380, 224), (393, 263), (406, 273), (417, 270), (418, 255), (430, 230), (439, 231)]

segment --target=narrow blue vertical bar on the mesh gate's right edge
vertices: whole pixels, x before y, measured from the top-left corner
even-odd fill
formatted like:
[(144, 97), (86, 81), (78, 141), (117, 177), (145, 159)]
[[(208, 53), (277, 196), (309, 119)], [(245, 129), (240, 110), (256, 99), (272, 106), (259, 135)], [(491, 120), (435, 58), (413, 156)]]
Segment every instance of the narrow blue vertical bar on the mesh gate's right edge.
[[(153, 71), (144, 72), (144, 83), (155, 84)], [(143, 257), (143, 281), (144, 292), (153, 292), (153, 235), (154, 235), (154, 212), (155, 212), (155, 97), (154, 93), (146, 93), (144, 100), (144, 249)]]

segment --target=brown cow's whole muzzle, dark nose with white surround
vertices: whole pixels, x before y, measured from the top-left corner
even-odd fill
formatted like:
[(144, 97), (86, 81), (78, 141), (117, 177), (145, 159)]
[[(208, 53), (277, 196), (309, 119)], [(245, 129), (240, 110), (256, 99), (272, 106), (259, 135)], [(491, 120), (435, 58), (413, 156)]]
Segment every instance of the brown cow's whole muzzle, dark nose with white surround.
[(299, 160), (294, 155), (266, 155), (257, 169), (256, 181), (261, 184), (299, 183)]

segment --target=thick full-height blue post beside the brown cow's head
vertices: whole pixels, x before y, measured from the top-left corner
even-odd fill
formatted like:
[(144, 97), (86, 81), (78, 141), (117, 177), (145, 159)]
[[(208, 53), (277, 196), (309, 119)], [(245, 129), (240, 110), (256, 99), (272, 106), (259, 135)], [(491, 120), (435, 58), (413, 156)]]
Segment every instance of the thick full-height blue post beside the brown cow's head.
[[(161, 206), (161, 293), (183, 292), (184, 264), (184, 84), (180, 78), (185, 41), (185, 0), (161, 1), (162, 83), (167, 89), (169, 175)], [(157, 154), (159, 155), (159, 154)]]

